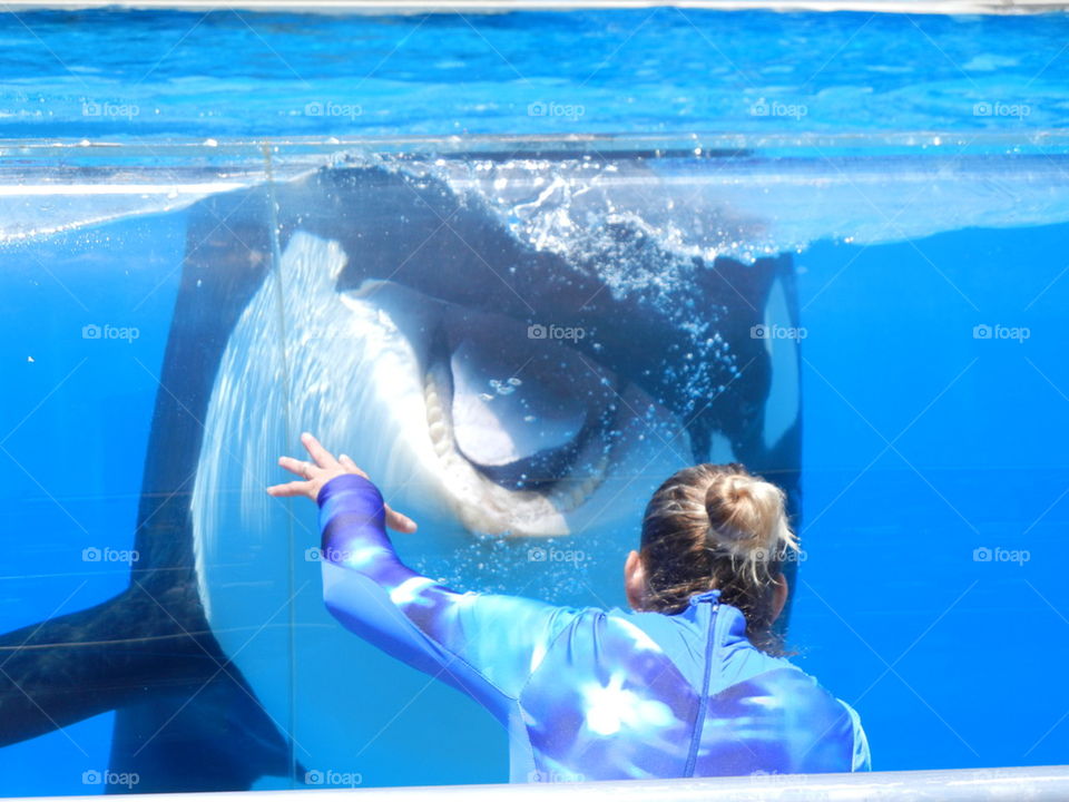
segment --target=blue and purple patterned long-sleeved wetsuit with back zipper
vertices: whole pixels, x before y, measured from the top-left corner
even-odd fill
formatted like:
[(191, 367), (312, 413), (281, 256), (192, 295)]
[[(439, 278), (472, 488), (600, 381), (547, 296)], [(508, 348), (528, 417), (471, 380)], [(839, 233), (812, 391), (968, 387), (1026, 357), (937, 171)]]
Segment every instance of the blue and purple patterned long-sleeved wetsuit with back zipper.
[(853, 710), (755, 648), (717, 590), (676, 615), (460, 594), (398, 559), (371, 482), (318, 503), (331, 613), (491, 711), (513, 782), (870, 769)]

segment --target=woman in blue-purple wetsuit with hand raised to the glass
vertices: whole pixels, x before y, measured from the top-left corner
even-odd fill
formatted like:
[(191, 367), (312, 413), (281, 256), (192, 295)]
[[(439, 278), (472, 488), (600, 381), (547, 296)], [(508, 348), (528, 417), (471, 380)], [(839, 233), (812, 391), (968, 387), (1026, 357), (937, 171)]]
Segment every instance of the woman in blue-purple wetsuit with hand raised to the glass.
[(320, 506), (323, 595), (349, 629), (486, 705), (511, 779), (610, 780), (870, 769), (857, 714), (782, 653), (773, 624), (796, 549), (784, 495), (742, 466), (661, 485), (624, 566), (632, 612), (455, 593), (405, 567), (385, 527), (415, 531), (347, 457), (272, 496)]

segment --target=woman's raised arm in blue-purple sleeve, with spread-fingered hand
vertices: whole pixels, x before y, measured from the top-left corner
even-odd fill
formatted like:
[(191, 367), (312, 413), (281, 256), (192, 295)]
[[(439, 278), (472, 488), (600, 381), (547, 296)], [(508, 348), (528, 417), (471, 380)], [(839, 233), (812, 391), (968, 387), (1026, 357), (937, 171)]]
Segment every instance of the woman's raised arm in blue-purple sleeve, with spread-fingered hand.
[(279, 462), (307, 479), (268, 492), (318, 502), (327, 608), (347, 629), (504, 720), (508, 703), (578, 612), (513, 596), (460, 594), (416, 574), (398, 558), (385, 531), (388, 522), (405, 531), (414, 522), (391, 510), (351, 460), (334, 460), (311, 436), (304, 440), (315, 466)]

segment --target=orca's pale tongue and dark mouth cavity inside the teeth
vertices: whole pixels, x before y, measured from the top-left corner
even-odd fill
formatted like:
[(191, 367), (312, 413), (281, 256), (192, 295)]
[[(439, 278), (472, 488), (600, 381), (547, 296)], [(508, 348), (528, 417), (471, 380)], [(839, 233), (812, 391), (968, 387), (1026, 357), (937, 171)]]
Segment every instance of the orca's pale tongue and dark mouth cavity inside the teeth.
[(454, 330), (452, 338), (458, 450), (507, 487), (532, 488), (568, 476), (586, 439), (610, 417), (612, 378), (560, 341), (482, 323)]

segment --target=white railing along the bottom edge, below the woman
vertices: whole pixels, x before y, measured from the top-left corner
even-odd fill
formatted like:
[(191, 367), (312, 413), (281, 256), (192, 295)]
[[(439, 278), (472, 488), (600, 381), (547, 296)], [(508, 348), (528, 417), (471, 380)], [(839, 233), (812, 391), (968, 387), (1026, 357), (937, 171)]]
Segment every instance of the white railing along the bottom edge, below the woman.
[[(1069, 766), (953, 769), (873, 772), (871, 774), (758, 774), (704, 780), (630, 780), (594, 783), (449, 785), (405, 789), (310, 789), (241, 793), (167, 794), (166, 802), (1063, 802), (1069, 800)], [(42, 802), (36, 798), (33, 802)], [(96, 796), (57, 796), (57, 801)], [(126, 795), (124, 802), (158, 802), (153, 794)], [(29, 800), (27, 800), (29, 802)]]

